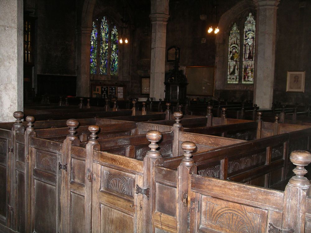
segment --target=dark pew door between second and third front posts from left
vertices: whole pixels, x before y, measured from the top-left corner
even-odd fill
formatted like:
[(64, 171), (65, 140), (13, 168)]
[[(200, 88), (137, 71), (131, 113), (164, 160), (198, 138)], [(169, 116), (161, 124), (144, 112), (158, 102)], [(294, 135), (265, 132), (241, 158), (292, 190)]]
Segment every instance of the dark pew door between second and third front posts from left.
[(30, 137), (26, 232), (61, 232), (62, 143)]

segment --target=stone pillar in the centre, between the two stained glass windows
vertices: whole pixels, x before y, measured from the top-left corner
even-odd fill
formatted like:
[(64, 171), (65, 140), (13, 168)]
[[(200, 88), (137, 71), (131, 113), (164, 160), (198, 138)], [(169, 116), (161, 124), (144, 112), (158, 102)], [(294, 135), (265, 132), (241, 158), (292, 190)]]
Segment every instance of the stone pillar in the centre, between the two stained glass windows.
[(150, 97), (164, 99), (166, 24), (169, 0), (151, 0), (151, 68)]

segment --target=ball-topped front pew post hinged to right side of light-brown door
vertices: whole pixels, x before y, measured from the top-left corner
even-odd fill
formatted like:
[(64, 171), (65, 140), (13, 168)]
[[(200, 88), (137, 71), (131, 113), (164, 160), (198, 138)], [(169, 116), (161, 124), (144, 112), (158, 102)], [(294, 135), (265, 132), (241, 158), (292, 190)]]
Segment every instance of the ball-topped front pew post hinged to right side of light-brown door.
[[(161, 153), (156, 149), (159, 147), (157, 142), (160, 141), (162, 135), (157, 130), (150, 130), (146, 134), (147, 140), (150, 142), (149, 148), (151, 150), (147, 151), (144, 158), (144, 174), (143, 174), (143, 187), (149, 191), (149, 197), (143, 195), (143, 231), (142, 232), (153, 232), (153, 213), (155, 209), (155, 180), (154, 180), (154, 167), (157, 165), (164, 164), (163, 157)], [(137, 187), (137, 186), (136, 186)], [(149, 190), (148, 190), (149, 189)]]

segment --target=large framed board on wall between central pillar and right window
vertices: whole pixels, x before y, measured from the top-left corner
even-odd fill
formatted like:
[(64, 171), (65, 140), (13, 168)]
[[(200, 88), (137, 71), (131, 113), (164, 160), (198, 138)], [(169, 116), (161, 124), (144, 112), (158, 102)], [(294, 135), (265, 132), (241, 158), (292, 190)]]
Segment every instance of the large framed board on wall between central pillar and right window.
[(214, 96), (215, 66), (187, 66), (187, 95)]

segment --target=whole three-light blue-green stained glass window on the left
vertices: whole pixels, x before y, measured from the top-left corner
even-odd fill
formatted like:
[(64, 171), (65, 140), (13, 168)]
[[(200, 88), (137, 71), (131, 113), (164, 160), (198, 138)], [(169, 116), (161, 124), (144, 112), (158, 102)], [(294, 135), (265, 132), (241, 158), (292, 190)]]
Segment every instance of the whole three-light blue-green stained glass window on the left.
[(91, 74), (118, 75), (118, 29), (105, 16), (93, 21), (90, 52)]

